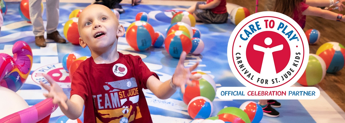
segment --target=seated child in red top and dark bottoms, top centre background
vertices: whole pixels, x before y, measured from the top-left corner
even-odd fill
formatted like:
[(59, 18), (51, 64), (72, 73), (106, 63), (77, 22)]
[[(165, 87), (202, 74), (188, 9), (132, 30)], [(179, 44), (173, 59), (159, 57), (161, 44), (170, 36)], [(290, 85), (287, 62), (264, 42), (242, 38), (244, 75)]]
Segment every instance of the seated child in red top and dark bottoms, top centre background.
[(193, 13), (195, 20), (203, 23), (225, 23), (229, 16), (226, 10), (226, 0), (197, 2), (186, 11)]

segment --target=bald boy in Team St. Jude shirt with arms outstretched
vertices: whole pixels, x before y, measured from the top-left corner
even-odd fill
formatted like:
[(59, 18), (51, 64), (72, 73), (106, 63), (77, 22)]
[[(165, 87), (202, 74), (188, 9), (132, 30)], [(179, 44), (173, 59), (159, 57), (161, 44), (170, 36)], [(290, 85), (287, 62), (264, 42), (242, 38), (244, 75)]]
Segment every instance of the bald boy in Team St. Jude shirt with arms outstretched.
[[(160, 99), (168, 99), (185, 84), (195, 85), (191, 75), (198, 63), (184, 67), (186, 52), (180, 56), (171, 80), (161, 82), (139, 56), (125, 55), (117, 51), (118, 37), (125, 34), (115, 14), (106, 6), (91, 4), (80, 13), (78, 20), (79, 44), (91, 51), (91, 57), (80, 63), (73, 72), (70, 99), (49, 76), (44, 75), (51, 86), (41, 85), (49, 91), (44, 95), (53, 98), (69, 119), (82, 114), (84, 123), (120, 122), (152, 123), (150, 111), (142, 89), (149, 89)], [(125, 112), (124, 112), (125, 111)]]

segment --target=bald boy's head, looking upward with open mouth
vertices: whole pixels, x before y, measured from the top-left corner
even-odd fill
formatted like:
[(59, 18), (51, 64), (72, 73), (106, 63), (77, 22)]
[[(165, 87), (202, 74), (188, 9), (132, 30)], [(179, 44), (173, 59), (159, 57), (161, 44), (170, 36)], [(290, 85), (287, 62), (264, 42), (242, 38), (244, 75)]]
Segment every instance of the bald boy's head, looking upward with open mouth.
[(78, 20), (79, 43), (90, 50), (107, 50), (124, 35), (115, 14), (104, 5), (92, 4), (82, 10)]

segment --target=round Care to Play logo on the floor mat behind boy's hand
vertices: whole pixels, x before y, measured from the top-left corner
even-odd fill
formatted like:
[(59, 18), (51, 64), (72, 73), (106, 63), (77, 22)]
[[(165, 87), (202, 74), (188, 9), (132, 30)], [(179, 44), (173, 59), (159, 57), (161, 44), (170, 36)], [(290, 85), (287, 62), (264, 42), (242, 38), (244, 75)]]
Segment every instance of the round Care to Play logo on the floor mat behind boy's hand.
[(40, 67), (31, 74), (31, 78), (34, 82), (38, 84), (43, 82), (50, 86), (48, 80), (43, 77), (43, 74), (49, 75), (61, 88), (71, 88), (69, 74), (65, 69), (63, 69), (61, 63)]

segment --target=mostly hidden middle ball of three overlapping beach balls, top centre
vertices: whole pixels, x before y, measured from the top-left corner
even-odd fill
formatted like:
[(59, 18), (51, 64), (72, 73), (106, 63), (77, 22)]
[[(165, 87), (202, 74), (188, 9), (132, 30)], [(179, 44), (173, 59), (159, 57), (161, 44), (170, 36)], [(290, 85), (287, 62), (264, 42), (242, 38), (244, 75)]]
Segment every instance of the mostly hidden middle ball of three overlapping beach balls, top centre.
[(184, 22), (176, 22), (171, 24), (167, 29), (167, 35), (178, 30), (186, 32), (189, 35), (189, 37), (193, 36), (193, 30), (188, 24)]

